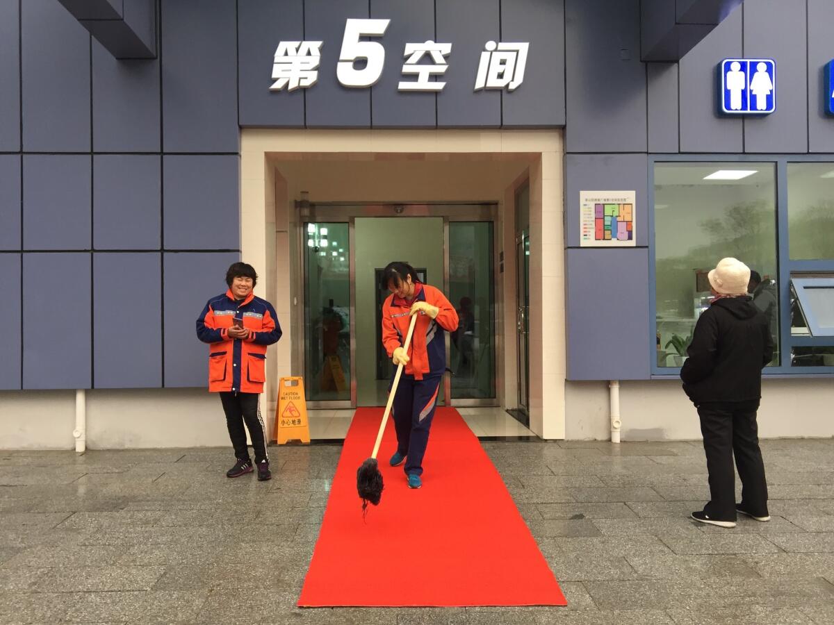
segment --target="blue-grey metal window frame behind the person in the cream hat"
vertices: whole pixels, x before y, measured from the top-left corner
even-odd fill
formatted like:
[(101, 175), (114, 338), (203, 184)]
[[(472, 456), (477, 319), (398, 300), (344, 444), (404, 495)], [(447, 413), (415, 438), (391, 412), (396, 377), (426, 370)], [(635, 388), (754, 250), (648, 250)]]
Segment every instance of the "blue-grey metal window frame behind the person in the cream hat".
[[(834, 154), (649, 154), (646, 198), (648, 218), (646, 225), (649, 235), (649, 336), (657, 332), (657, 268), (655, 245), (655, 166), (658, 163), (771, 163), (776, 171), (776, 274), (779, 290), (779, 363), (762, 371), (763, 378), (834, 378), (834, 367), (791, 367), (791, 352), (796, 347), (826, 347), (831, 337), (791, 336), (791, 274), (793, 273), (834, 273), (834, 258), (794, 261), (790, 257), (788, 240), (788, 164), (831, 163), (834, 168)], [(719, 260), (716, 258), (716, 261)], [(798, 294), (797, 294), (798, 295)], [(810, 321), (808, 322), (810, 323)], [(680, 378), (680, 367), (659, 367), (656, 343), (649, 341), (651, 379)]]

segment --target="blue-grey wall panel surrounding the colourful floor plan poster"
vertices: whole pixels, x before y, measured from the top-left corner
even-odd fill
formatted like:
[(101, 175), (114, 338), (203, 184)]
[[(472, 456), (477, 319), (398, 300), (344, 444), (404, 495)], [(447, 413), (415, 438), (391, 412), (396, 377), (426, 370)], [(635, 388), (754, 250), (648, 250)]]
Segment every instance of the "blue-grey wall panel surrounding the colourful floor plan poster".
[(631, 191), (635, 198), (637, 245), (649, 244), (646, 208), (646, 154), (565, 155), (565, 240), (569, 248), (580, 245), (580, 191)]

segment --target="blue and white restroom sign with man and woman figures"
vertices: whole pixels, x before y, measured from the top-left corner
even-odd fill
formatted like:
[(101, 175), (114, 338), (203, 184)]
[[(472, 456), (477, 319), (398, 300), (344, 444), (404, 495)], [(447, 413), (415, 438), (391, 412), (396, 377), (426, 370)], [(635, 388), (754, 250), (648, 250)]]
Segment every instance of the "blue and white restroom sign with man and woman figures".
[(725, 58), (721, 74), (721, 112), (767, 115), (776, 111), (776, 62), (771, 58)]

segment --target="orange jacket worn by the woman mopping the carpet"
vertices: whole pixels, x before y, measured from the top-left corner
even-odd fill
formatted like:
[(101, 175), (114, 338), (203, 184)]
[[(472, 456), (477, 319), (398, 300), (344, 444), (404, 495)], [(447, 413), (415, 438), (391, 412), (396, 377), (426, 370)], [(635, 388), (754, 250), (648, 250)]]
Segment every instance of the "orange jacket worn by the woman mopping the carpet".
[(458, 313), (439, 289), (417, 283), (411, 302), (392, 293), (382, 305), (382, 344), (389, 358), (393, 356), (394, 349), (404, 345), (411, 323), (409, 312), (414, 302), (429, 303), (440, 308), (440, 313), (434, 319), (425, 313), (419, 314), (409, 345), (411, 360), (405, 365), (405, 374), (413, 375), (415, 380), (422, 380), (426, 375), (443, 375), (446, 370), (444, 331), (454, 332), (458, 328)]

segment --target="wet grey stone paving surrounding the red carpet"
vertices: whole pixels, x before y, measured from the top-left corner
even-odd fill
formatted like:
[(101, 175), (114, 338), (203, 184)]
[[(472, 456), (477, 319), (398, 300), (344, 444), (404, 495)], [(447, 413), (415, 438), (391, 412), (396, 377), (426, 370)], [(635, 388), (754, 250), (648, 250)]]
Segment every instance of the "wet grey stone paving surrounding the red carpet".
[(226, 448), (0, 451), (0, 622), (834, 622), (834, 440), (764, 441), (773, 520), (734, 529), (688, 518), (698, 441), (483, 445), (567, 607), (294, 607), (337, 445), (273, 448), (268, 483)]

